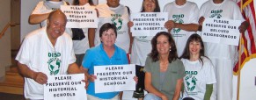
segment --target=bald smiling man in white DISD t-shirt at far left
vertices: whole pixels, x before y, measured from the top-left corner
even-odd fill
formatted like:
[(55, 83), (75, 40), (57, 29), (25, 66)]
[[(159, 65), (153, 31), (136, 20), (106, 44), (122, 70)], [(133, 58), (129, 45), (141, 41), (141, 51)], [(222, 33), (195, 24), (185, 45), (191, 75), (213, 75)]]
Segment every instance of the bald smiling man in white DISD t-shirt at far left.
[(44, 98), (43, 84), (49, 75), (76, 74), (72, 39), (65, 33), (67, 18), (62, 11), (49, 14), (47, 27), (30, 32), (24, 39), (16, 60), (25, 77), (24, 95), (29, 100)]

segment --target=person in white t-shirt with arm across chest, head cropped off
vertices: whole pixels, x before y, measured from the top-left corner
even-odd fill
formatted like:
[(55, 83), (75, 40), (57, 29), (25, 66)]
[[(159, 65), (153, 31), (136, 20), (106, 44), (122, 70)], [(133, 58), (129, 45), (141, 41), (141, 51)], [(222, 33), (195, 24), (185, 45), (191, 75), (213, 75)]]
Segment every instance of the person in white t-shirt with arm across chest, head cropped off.
[(198, 30), (199, 9), (193, 2), (175, 0), (165, 4), (164, 12), (169, 13), (169, 20), (165, 23), (165, 28), (171, 31), (178, 56), (180, 56), (188, 37)]

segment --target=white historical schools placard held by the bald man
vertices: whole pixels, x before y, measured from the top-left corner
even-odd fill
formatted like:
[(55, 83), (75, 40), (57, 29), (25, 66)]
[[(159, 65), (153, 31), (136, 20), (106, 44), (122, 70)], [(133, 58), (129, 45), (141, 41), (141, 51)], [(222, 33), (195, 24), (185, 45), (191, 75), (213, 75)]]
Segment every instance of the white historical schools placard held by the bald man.
[(44, 100), (87, 100), (84, 74), (49, 75)]

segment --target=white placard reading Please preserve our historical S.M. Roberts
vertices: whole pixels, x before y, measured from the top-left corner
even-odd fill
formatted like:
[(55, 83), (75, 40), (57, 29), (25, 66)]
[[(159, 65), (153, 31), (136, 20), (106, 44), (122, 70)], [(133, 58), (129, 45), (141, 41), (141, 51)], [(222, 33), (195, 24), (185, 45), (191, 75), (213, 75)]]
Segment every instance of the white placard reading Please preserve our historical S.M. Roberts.
[(165, 22), (168, 21), (167, 12), (141, 12), (131, 14), (133, 36), (155, 36), (157, 32), (167, 32)]

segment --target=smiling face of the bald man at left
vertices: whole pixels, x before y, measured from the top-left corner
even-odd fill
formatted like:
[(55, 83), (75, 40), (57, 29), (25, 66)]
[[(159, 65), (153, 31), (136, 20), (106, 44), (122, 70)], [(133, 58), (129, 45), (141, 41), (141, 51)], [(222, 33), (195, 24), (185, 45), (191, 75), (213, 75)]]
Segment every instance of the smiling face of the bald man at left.
[(61, 11), (57, 11), (48, 18), (47, 33), (48, 38), (56, 40), (65, 32), (66, 17)]

